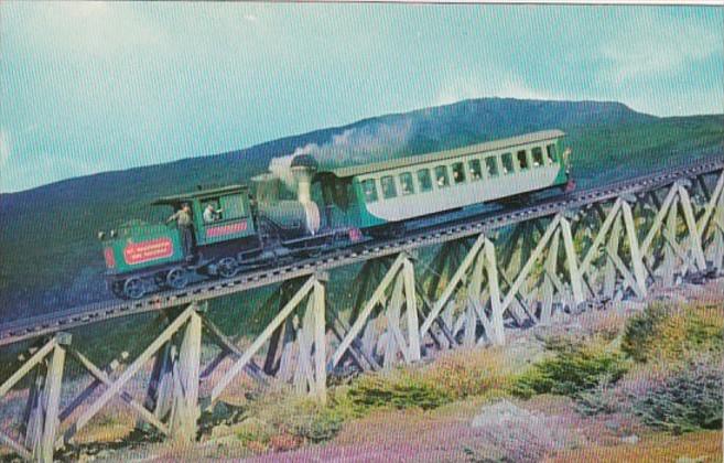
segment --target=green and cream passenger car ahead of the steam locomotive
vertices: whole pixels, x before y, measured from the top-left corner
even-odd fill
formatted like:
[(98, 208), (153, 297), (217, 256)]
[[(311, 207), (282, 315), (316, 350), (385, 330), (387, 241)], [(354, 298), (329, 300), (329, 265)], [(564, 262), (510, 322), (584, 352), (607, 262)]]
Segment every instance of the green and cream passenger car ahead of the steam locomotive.
[[(317, 172), (346, 225), (365, 229), (569, 185), (564, 133), (547, 130), (455, 150)], [(339, 193), (336, 196), (341, 196)], [(332, 197), (332, 194), (327, 194)], [(344, 204), (344, 207), (342, 207)]]

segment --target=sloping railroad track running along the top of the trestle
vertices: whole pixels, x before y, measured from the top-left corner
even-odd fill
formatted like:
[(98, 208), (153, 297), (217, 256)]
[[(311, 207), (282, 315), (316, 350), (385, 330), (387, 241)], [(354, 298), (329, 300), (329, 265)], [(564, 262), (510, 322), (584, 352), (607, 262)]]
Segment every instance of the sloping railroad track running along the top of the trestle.
[(367, 245), (364, 249), (342, 249), (322, 257), (244, 273), (227, 280), (213, 280), (183, 290), (151, 294), (138, 301), (104, 301), (42, 316), (21, 319), (0, 325), (0, 346), (110, 319), (214, 299), (220, 295), (310, 276), (317, 271), (348, 266), (363, 260), (491, 232), (519, 222), (554, 215), (569, 209), (580, 208), (587, 204), (605, 202), (622, 195), (658, 190), (680, 179), (695, 177), (722, 169), (724, 169), (724, 157), (716, 157), (715, 159), (685, 166), (667, 169), (630, 180), (614, 182), (605, 186), (543, 200), (515, 211), (503, 211), (484, 216), (460, 219), (454, 223), (441, 225), (435, 229), (414, 232), (403, 238), (388, 239), (375, 243), (374, 245)]

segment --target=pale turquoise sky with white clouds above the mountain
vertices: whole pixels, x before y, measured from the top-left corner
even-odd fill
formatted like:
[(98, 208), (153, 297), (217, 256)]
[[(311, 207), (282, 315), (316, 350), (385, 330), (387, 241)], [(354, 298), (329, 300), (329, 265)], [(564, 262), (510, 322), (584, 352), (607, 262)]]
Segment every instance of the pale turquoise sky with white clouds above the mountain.
[(3, 1), (0, 85), (15, 192), (465, 98), (723, 114), (724, 8)]

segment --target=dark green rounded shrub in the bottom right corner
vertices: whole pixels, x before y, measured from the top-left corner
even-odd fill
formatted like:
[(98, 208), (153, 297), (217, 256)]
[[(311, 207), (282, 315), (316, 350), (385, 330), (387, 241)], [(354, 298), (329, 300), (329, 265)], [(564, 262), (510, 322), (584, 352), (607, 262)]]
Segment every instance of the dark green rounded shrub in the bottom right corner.
[(653, 428), (672, 432), (722, 428), (722, 365), (693, 359), (633, 397), (634, 411)]

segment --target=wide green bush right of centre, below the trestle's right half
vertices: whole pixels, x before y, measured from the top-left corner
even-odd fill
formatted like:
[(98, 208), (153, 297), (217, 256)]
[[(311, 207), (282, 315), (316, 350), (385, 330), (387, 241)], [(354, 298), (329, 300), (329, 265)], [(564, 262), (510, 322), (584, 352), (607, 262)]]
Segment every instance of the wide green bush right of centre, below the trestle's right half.
[(576, 397), (602, 381), (616, 383), (628, 370), (624, 356), (593, 344), (555, 341), (549, 345), (555, 355), (533, 365), (512, 386), (519, 397), (556, 394)]

